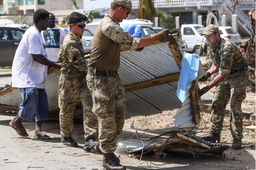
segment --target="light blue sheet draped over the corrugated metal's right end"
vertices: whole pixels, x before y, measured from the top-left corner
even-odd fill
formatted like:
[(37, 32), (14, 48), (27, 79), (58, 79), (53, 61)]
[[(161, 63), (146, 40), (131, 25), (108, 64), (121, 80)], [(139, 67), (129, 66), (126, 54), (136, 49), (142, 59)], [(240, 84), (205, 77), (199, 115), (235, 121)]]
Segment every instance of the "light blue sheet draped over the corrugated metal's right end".
[(177, 97), (183, 103), (186, 99), (186, 92), (188, 90), (188, 83), (192, 79), (196, 79), (199, 67), (199, 56), (195, 53), (190, 54), (183, 52), (180, 78), (177, 88)]

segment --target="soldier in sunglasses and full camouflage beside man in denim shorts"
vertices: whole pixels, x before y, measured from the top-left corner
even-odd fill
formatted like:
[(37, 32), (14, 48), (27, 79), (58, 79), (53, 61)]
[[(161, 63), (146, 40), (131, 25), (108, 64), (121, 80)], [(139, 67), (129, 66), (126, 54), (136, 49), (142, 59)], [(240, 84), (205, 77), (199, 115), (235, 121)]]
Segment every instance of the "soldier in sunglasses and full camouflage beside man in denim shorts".
[(71, 135), (73, 132), (74, 110), (76, 101), (81, 99), (84, 111), (84, 150), (98, 141), (98, 120), (92, 113), (92, 97), (86, 84), (86, 59), (81, 36), (84, 32), (87, 17), (73, 12), (70, 15), (70, 32), (66, 35), (58, 53), (62, 63), (59, 80), (58, 106), (60, 107), (61, 141), (67, 146), (77, 147)]

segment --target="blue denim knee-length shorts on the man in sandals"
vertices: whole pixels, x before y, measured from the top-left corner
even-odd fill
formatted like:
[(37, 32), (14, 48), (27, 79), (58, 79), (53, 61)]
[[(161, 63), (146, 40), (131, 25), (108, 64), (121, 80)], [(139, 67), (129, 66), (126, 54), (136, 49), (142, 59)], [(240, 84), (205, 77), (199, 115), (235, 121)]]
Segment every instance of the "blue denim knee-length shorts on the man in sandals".
[(36, 122), (48, 119), (48, 100), (45, 89), (35, 87), (20, 88), (22, 103), (19, 108), (19, 117), (32, 121), (34, 115)]

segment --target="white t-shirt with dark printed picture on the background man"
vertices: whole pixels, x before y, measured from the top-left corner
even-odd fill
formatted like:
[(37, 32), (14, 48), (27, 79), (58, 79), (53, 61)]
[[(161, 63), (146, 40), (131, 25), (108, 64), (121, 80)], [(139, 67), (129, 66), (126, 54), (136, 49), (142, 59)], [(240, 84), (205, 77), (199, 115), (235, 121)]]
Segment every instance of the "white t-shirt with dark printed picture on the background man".
[(48, 59), (54, 62), (58, 61), (58, 52), (60, 51), (60, 45), (66, 36), (66, 32), (63, 28), (55, 26), (54, 28), (47, 28), (47, 30), (41, 31), (41, 34)]

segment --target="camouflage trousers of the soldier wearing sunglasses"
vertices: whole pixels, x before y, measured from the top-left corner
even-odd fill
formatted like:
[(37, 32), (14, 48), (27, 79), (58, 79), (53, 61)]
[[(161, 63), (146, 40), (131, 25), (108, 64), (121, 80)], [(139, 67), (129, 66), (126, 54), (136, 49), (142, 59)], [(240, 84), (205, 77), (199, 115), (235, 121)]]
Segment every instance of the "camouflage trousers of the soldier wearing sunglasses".
[(80, 98), (83, 106), (84, 138), (98, 140), (98, 119), (92, 112), (92, 96), (87, 88), (86, 76), (66, 78), (61, 74), (58, 84), (60, 134), (64, 137), (72, 135), (76, 101)]

